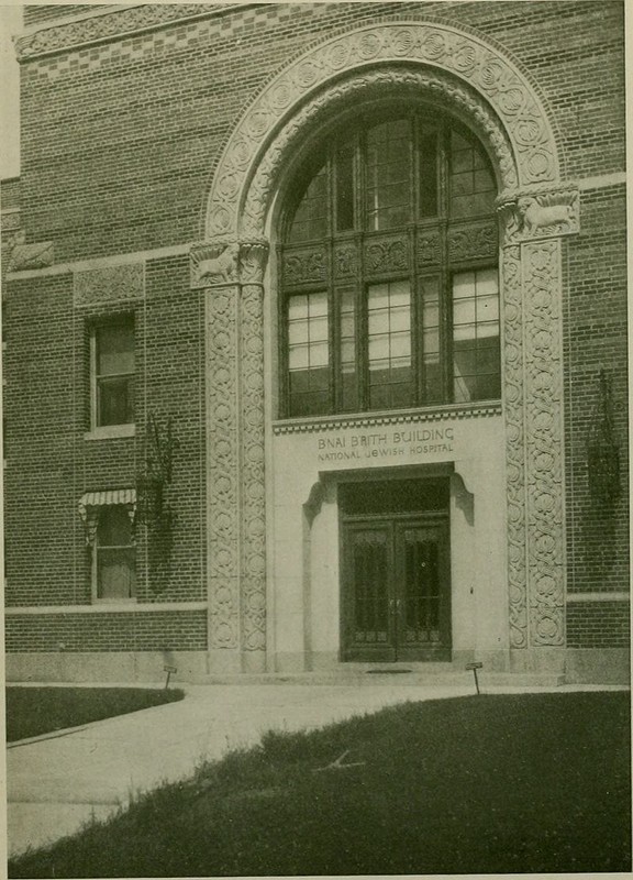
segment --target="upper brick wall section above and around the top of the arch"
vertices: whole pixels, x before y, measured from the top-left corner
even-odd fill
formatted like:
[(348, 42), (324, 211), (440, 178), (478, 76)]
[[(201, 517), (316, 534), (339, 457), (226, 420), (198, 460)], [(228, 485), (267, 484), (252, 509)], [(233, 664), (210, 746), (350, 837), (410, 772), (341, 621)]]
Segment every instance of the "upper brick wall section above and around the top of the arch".
[(557, 121), (568, 177), (623, 167), (619, 2), (215, 10), (190, 23), (23, 64), (30, 240), (55, 240), (57, 258), (66, 260), (199, 238), (210, 173), (264, 82), (340, 30), (429, 14), (473, 26), (514, 53)]

